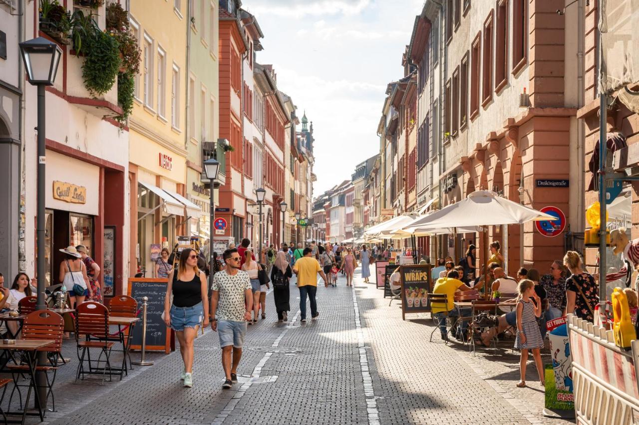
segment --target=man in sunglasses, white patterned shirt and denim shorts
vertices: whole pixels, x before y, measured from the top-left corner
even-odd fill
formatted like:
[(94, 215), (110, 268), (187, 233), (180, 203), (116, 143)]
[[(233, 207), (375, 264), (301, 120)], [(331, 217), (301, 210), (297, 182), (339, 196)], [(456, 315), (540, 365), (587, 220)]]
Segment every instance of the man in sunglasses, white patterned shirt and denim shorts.
[(233, 382), (238, 382), (237, 369), (242, 358), (242, 345), (246, 323), (250, 320), (253, 293), (250, 289), (249, 274), (240, 270), (241, 258), (238, 250), (233, 248), (224, 251), (222, 259), (226, 267), (213, 276), (210, 319), (211, 329), (218, 332), (222, 348), (222, 368), (226, 375), (222, 388), (229, 389)]

